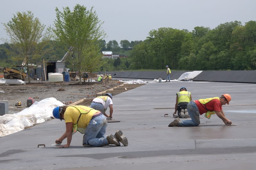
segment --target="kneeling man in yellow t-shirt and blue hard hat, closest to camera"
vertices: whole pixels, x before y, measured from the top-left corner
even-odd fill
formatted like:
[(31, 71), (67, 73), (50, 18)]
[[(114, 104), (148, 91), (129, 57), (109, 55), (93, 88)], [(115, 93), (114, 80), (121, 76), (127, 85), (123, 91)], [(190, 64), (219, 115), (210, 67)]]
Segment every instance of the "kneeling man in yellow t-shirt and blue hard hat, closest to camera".
[(61, 144), (67, 138), (67, 144), (60, 145), (59, 148), (70, 147), (72, 135), (77, 131), (84, 134), (84, 146), (106, 146), (109, 144), (120, 146), (120, 142), (124, 146), (128, 146), (127, 137), (121, 130), (118, 130), (115, 135), (104, 136), (107, 120), (100, 111), (81, 105), (63, 105), (54, 108), (53, 116), (56, 119), (65, 120), (66, 123), (65, 133), (56, 139), (55, 143)]

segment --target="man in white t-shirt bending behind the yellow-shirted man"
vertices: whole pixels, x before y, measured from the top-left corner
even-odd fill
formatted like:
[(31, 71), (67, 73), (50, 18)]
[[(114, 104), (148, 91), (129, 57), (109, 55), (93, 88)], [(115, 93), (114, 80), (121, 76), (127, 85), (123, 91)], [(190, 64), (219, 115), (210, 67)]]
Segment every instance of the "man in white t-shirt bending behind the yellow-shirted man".
[[(110, 93), (105, 94), (105, 96), (95, 97), (91, 103), (91, 108), (101, 111), (107, 118), (112, 119), (113, 114), (113, 96)], [(109, 107), (109, 115), (106, 114), (106, 110)]]

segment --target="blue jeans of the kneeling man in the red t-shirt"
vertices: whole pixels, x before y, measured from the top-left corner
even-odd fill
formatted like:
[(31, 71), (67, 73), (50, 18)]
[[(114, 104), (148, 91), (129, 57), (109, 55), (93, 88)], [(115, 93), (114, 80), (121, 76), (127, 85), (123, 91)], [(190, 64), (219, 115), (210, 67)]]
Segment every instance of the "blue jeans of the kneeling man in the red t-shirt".
[(200, 124), (200, 113), (195, 102), (191, 101), (187, 104), (187, 112), (191, 120), (183, 120), (178, 123), (178, 126), (198, 126)]

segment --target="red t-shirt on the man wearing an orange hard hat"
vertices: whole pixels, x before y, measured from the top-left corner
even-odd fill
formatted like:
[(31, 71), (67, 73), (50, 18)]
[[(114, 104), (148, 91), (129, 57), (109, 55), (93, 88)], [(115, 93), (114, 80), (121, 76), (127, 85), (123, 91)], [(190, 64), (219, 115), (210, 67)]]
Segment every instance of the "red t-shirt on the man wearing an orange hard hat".
[[(199, 102), (199, 100), (195, 100), (195, 103), (198, 107), (200, 115), (202, 115), (203, 113), (206, 113), (208, 111), (219, 111), (220, 112), (222, 110), (221, 103), (218, 99), (213, 99), (206, 104), (201, 104)], [(206, 105), (207, 110), (205, 109), (204, 105)]]

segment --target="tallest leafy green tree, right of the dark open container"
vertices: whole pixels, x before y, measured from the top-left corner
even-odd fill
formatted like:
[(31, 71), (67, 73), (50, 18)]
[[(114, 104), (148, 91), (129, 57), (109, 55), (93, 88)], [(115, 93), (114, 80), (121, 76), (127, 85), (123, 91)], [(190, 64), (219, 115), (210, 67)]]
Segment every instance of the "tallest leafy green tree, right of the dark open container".
[(106, 35), (101, 27), (103, 22), (98, 19), (93, 7), (87, 10), (85, 6), (77, 4), (73, 11), (69, 7), (63, 8), (63, 12), (58, 8), (55, 11), (56, 39), (65, 43), (67, 47), (74, 47), (73, 64), (79, 72), (79, 84), (82, 84), (81, 76), (84, 71), (95, 71), (100, 67), (101, 53), (95, 45), (99, 46), (98, 40)]

